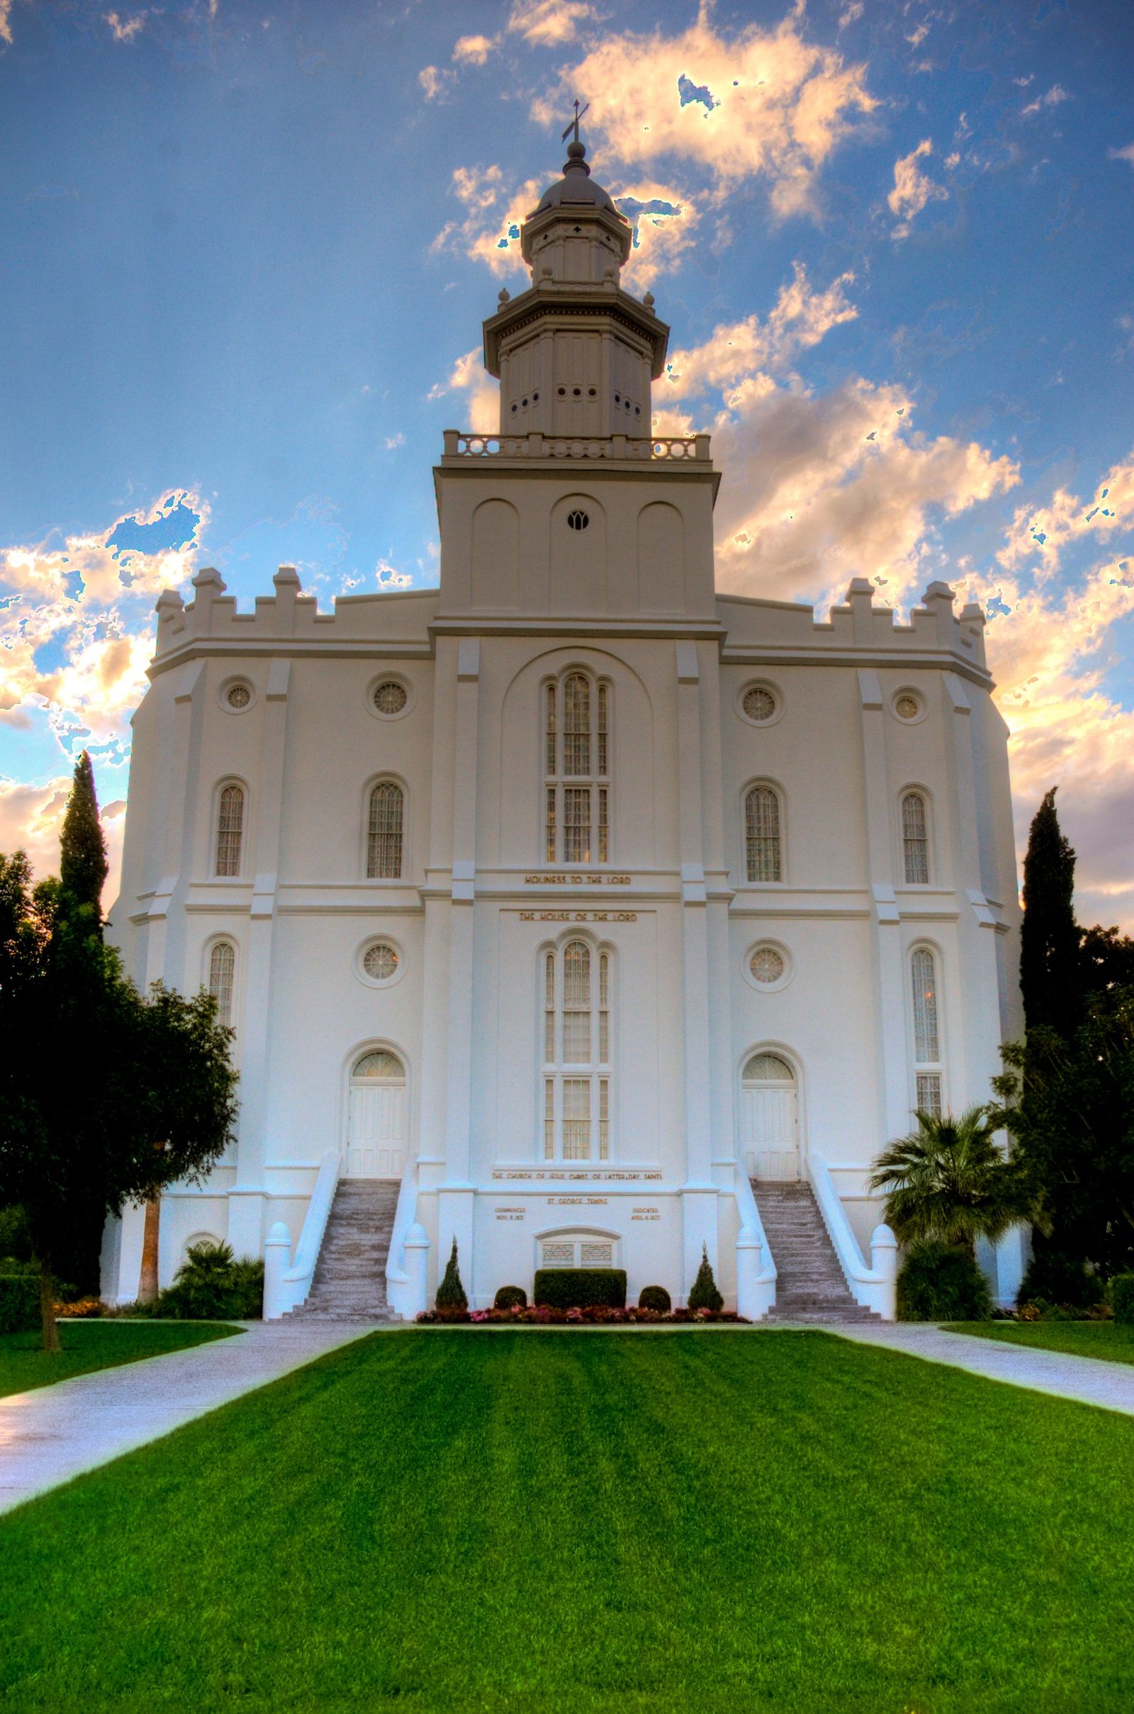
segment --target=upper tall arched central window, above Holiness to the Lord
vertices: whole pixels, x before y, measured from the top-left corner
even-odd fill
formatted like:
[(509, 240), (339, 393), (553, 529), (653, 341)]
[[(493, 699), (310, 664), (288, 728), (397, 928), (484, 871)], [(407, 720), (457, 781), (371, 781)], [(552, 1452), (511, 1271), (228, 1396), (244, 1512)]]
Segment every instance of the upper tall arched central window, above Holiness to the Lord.
[(569, 672), (558, 684), (548, 684), (543, 739), (546, 862), (608, 862), (608, 686), (584, 672)]

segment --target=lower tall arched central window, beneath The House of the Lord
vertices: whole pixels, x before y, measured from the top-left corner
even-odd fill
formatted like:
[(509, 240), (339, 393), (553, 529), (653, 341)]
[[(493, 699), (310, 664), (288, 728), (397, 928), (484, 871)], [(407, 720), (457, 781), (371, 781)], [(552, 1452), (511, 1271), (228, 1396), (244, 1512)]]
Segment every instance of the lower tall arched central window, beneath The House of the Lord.
[(610, 1160), (610, 953), (543, 955), (543, 1159)]

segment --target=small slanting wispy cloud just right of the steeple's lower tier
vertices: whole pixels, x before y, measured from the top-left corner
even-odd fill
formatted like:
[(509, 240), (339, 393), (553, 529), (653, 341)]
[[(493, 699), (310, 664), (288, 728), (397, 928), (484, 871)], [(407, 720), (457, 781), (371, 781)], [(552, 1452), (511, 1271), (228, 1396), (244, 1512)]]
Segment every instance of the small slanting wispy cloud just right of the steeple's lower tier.
[(689, 398), (706, 387), (728, 393), (761, 370), (785, 369), (800, 351), (819, 345), (833, 327), (858, 315), (845, 293), (853, 283), (853, 274), (839, 274), (826, 291), (815, 291), (803, 262), (797, 262), (793, 279), (779, 288), (766, 322), (755, 314), (740, 322), (725, 322), (713, 329), (704, 345), (671, 353), (656, 391), (658, 406), (665, 408), (671, 399)]

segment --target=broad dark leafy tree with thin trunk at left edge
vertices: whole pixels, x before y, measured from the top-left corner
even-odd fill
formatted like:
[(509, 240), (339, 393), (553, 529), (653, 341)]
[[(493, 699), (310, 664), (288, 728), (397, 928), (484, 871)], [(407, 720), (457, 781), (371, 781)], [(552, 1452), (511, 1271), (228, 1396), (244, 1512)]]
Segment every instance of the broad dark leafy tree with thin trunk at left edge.
[(103, 1220), (199, 1181), (231, 1138), (236, 1075), (207, 994), (142, 998), (91, 905), (29, 881), (22, 852), (0, 857), (0, 1205), (24, 1210), (43, 1345), (58, 1351), (55, 1258), (74, 1210)]

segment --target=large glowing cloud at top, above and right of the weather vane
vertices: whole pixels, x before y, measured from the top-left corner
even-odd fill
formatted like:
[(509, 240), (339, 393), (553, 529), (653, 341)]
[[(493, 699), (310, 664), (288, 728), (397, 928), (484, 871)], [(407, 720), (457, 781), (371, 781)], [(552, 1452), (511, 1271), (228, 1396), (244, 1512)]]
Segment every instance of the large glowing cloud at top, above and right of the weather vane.
[(774, 29), (718, 34), (702, 3), (678, 34), (606, 36), (533, 106), (540, 123), (593, 101), (588, 129), (629, 170), (658, 156), (707, 166), (718, 190), (759, 177), (781, 214), (814, 213), (815, 177), (877, 101), (865, 67), (803, 39), (798, 9)]

